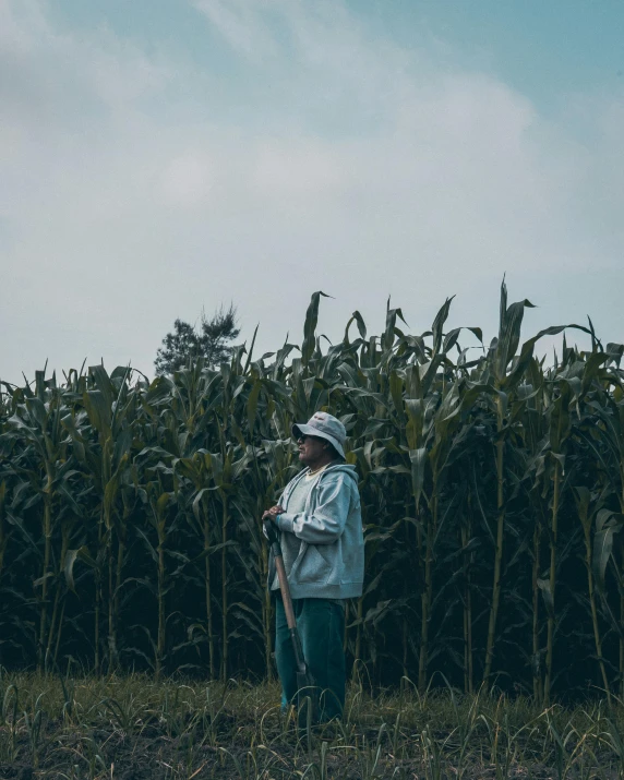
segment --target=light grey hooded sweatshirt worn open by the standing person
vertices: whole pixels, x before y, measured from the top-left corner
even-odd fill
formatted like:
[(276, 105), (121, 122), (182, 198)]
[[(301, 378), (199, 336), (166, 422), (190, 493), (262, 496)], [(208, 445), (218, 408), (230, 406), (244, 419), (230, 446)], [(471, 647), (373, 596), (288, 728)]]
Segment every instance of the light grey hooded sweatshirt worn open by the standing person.
[[(286, 512), (277, 523), (283, 539), (293, 533), (300, 540), (299, 552), (286, 572), (290, 595), (293, 599), (361, 596), (364, 539), (356, 467), (328, 466), (312, 484), (303, 512), (289, 513), (288, 497), (308, 472), (303, 469), (286, 485), (280, 501)], [(268, 583), (275, 584), (273, 556)]]

